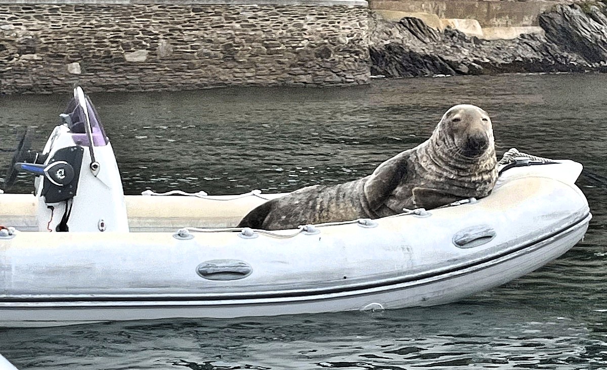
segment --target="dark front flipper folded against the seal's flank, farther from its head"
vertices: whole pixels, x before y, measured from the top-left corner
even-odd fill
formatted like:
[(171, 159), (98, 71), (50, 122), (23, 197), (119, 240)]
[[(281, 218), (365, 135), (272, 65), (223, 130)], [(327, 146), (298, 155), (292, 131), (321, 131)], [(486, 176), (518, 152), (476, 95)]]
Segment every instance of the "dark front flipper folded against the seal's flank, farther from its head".
[(407, 161), (404, 160), (404, 153), (380, 164), (365, 181), (364, 195), (371, 211), (379, 209), (401, 183), (402, 178), (407, 175)]

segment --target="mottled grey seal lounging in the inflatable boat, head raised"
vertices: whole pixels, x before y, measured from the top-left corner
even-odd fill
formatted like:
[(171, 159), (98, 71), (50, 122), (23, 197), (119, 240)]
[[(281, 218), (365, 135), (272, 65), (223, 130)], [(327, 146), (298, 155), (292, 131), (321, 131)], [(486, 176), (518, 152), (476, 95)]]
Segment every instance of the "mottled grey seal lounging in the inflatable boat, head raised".
[(357, 218), (380, 218), (404, 209), (432, 209), (489, 195), (497, 181), (489, 115), (459, 104), (444, 113), (430, 138), (380, 164), (367, 177), (332, 186), (309, 186), (251, 210), (238, 227), (279, 230)]

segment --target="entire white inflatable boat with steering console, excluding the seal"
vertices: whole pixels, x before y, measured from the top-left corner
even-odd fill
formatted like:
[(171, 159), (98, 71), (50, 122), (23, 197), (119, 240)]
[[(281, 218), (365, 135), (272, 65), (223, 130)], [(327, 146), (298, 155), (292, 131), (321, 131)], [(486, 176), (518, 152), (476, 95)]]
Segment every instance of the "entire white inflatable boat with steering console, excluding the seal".
[(22, 141), (13, 158), (13, 169), (35, 177), (35, 193), (0, 193), (0, 326), (444, 304), (554, 260), (591, 219), (575, 186), (581, 164), (514, 150), (480, 200), (240, 229), (249, 210), (283, 194), (124, 196), (80, 88), (61, 119), (44, 150)]

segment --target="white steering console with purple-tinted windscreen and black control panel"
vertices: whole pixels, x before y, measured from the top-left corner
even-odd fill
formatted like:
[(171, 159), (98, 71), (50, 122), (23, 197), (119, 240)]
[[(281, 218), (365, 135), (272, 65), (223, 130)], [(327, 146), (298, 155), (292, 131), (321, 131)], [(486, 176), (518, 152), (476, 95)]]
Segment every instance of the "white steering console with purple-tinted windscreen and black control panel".
[(60, 117), (42, 153), (24, 152), (15, 164), (37, 175), (38, 229), (128, 232), (114, 150), (80, 87)]

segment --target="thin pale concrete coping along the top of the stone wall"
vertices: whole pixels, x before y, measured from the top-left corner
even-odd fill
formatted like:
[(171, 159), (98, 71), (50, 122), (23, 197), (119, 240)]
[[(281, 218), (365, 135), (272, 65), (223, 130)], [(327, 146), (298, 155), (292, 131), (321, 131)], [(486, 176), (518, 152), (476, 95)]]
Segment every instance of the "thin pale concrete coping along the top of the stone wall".
[(7, 5), (310, 5), (333, 6), (344, 5), (351, 7), (368, 7), (365, 0), (0, 0), (0, 4)]

